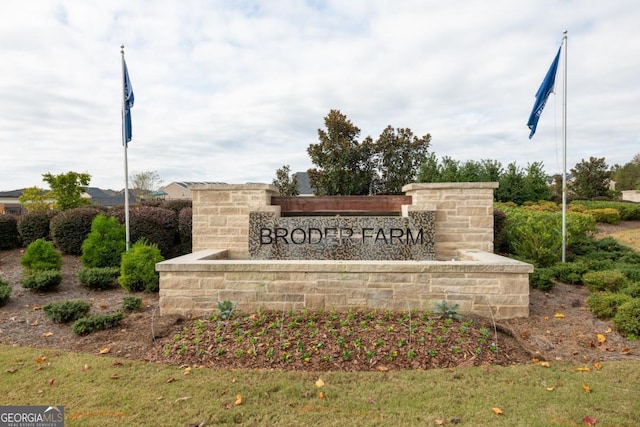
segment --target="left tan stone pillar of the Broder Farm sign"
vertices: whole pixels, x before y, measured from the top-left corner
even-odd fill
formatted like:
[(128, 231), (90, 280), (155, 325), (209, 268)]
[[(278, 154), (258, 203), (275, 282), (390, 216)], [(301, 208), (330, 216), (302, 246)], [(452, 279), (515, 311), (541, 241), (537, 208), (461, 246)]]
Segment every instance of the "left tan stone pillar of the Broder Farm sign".
[(193, 252), (228, 249), (230, 259), (249, 257), (249, 212), (280, 215), (271, 206), (278, 189), (269, 184), (196, 184), (193, 195)]

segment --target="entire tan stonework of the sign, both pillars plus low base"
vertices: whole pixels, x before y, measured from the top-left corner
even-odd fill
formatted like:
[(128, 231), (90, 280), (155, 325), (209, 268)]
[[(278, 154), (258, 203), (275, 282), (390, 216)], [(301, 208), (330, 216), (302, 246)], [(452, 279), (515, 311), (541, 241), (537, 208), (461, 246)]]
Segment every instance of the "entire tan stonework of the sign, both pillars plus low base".
[[(498, 319), (527, 317), (533, 266), (493, 254), (497, 183), (409, 184), (409, 211), (436, 211), (440, 261), (248, 259), (249, 213), (273, 212), (266, 184), (197, 185), (194, 253), (157, 264), (162, 314), (206, 315), (219, 301), (245, 311), (380, 307), (432, 309), (434, 302)], [(452, 260), (455, 259), (455, 260)], [(445, 261), (446, 260), (446, 261)]]

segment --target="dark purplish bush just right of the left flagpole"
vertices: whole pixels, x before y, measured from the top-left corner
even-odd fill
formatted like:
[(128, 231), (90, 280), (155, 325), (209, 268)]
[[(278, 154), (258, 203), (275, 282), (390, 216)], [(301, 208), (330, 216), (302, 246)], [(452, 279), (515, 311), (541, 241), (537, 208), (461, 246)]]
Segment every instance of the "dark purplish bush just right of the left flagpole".
[[(124, 224), (124, 210), (114, 214)], [(178, 215), (169, 209), (141, 206), (129, 211), (129, 233), (132, 242), (145, 239), (158, 246), (162, 256), (173, 255), (178, 240)]]

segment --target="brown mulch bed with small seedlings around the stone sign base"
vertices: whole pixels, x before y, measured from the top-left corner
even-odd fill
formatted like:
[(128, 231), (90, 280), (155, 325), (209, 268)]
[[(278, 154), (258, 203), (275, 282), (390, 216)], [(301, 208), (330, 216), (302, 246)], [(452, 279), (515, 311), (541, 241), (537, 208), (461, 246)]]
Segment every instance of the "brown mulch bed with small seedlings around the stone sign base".
[(106, 314), (120, 310), (122, 298), (131, 294), (83, 287), (76, 277), (79, 258), (67, 255), (57, 290), (23, 289), (22, 253), (0, 252), (0, 277), (13, 287), (11, 298), (0, 307), (2, 344), (91, 354), (108, 349), (108, 355), (118, 358), (176, 365), (305, 371), (511, 365), (533, 358), (579, 363), (640, 359), (640, 342), (625, 340), (610, 322), (596, 318), (586, 306), (586, 289), (565, 284), (549, 292), (531, 290), (529, 318), (495, 325), (491, 319), (458, 321), (424, 313), (409, 317), (384, 310), (238, 312), (230, 320), (182, 319), (160, 316), (158, 294), (138, 294), (143, 309), (127, 315), (119, 327), (78, 336), (70, 325), (48, 320), (42, 307), (84, 299), (91, 303), (90, 314)]

